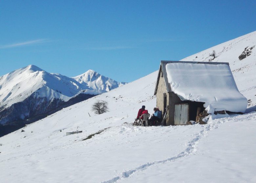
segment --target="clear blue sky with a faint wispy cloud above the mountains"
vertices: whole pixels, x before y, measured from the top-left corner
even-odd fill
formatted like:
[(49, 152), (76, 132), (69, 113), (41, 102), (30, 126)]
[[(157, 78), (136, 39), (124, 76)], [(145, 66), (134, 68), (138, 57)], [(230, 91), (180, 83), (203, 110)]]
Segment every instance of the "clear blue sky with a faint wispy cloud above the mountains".
[(0, 1), (0, 75), (29, 64), (131, 82), (256, 30), (256, 1)]

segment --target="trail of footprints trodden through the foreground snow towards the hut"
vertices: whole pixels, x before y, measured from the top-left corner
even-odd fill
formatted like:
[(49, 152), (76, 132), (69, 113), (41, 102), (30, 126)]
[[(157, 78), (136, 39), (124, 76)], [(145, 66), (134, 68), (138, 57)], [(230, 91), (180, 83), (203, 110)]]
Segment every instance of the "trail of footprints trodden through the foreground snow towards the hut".
[[(139, 173), (139, 172), (146, 170), (147, 168), (151, 167), (152, 165), (162, 164), (162, 163), (166, 163), (166, 162), (172, 162), (172, 161), (175, 161), (180, 158), (195, 155), (197, 153), (198, 143), (200, 142), (200, 140), (203, 137), (208, 136), (210, 131), (219, 128), (225, 122), (239, 121), (241, 119), (237, 119), (237, 118), (240, 118), (240, 117), (241, 117), (241, 115), (237, 115), (234, 117), (231, 116), (231, 117), (226, 117), (226, 118), (222, 118), (222, 119), (217, 119), (218, 120), (217, 123), (215, 123), (214, 120), (212, 120), (210, 123), (208, 123), (206, 125), (202, 125), (204, 127), (203, 130), (201, 130), (199, 133), (195, 134), (195, 137), (191, 141), (189, 141), (188, 144), (186, 144), (187, 148), (184, 151), (182, 151), (181, 153), (179, 153), (177, 156), (167, 158), (164, 160), (160, 160), (160, 161), (145, 163), (133, 170), (128, 170), (128, 171), (122, 172), (119, 176), (116, 176), (110, 180), (103, 181), (101, 183), (115, 183), (117, 181), (119, 182), (124, 178), (129, 178), (134, 173)], [(251, 117), (254, 117), (254, 116), (251, 116)], [(248, 118), (248, 117), (245, 116), (243, 118)]]

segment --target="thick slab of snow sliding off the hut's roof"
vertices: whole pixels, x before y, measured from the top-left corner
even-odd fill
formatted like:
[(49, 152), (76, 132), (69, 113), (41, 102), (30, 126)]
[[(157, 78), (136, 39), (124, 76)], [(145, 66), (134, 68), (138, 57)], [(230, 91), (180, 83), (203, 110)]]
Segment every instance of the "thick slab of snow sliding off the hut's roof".
[(168, 63), (168, 82), (174, 93), (186, 100), (205, 102), (215, 111), (245, 112), (247, 99), (238, 91), (228, 65)]

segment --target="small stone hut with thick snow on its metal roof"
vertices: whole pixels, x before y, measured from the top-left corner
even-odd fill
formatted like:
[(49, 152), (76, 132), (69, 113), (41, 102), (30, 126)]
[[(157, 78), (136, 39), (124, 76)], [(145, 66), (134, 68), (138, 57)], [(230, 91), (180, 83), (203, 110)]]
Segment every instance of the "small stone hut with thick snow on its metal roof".
[(247, 107), (226, 62), (161, 61), (154, 94), (163, 114), (168, 106), (166, 125), (196, 121), (205, 108), (244, 113)]

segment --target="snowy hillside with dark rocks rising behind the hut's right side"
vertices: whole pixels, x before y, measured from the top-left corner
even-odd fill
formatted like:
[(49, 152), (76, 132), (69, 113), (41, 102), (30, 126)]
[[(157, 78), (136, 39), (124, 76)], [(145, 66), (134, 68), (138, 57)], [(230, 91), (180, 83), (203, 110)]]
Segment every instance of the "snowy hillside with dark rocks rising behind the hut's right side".
[[(209, 56), (213, 50), (216, 52), (214, 59)], [(248, 107), (256, 105), (256, 31), (182, 60), (229, 62), (239, 91), (249, 100)]]

